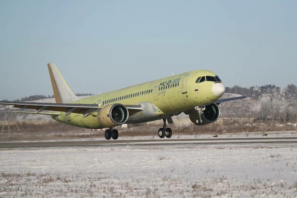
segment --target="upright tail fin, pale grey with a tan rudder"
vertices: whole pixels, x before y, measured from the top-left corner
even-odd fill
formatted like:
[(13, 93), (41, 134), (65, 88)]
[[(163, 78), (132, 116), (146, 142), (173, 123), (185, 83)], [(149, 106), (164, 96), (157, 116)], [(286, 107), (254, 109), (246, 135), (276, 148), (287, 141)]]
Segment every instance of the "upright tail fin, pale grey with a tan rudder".
[(79, 99), (71, 91), (55, 64), (48, 63), (48, 71), (50, 72), (50, 81), (52, 82), (56, 103), (69, 103)]

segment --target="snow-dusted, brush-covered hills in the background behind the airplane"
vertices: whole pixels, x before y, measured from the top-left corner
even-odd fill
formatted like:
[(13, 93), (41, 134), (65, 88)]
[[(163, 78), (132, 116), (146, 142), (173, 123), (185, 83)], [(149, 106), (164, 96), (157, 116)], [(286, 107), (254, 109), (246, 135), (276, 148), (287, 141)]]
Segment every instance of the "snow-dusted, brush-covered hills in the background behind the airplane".
[[(89, 95), (89, 94), (80, 94)], [(222, 98), (232, 98), (237, 96), (248, 96), (247, 99), (225, 102), (219, 105), (221, 109), (221, 117), (249, 117), (259, 118), (262, 120), (286, 120), (296, 121), (297, 118), (297, 88), (295, 85), (287, 85), (281, 89), (275, 85), (253, 86), (250, 88), (243, 88), (234, 86), (232, 88), (226, 87), (225, 94)], [(42, 95), (35, 95), (33, 97), (25, 97), (24, 99), (34, 99), (42, 97)], [(28, 102), (44, 102), (53, 103), (54, 98), (28, 100)], [(79, 96), (81, 98), (88, 96)], [(15, 100), (20, 101), (20, 100)], [(4, 120), (7, 111), (11, 111), (12, 107), (0, 105), (0, 120)], [(48, 120), (47, 115), (28, 115), (28, 114), (12, 114), (15, 120)], [(181, 114), (177, 119), (188, 118), (187, 115)]]

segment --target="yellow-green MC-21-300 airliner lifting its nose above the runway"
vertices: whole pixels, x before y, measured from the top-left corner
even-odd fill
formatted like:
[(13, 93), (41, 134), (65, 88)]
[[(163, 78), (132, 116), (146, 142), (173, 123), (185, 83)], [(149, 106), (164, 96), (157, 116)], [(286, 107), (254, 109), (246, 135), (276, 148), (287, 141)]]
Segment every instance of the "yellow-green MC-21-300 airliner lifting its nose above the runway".
[(163, 127), (158, 130), (158, 135), (170, 138), (172, 130), (166, 121), (173, 124), (173, 116), (185, 113), (195, 125), (209, 124), (219, 118), (220, 103), (247, 98), (220, 99), (225, 86), (218, 75), (208, 70), (194, 70), (80, 99), (71, 91), (55, 64), (48, 63), (48, 71), (56, 103), (0, 101), (0, 104), (20, 108), (14, 111), (16, 113), (50, 115), (55, 121), (72, 126), (108, 128), (106, 140), (118, 139), (119, 132), (113, 129), (116, 126), (161, 119)]

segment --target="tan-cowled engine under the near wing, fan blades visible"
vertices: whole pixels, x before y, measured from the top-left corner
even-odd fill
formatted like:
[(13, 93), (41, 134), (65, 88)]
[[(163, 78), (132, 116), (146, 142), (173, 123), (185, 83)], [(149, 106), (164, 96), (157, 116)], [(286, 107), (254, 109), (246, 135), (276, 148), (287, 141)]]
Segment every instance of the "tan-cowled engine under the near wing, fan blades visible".
[(110, 128), (124, 124), (128, 116), (128, 109), (123, 104), (108, 104), (99, 110), (97, 121), (100, 127)]

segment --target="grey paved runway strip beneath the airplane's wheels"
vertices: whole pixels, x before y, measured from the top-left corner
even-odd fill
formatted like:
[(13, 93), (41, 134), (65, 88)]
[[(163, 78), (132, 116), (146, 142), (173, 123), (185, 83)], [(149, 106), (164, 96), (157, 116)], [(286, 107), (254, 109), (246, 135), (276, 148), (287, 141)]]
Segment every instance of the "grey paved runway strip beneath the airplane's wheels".
[(45, 147), (114, 147), (123, 146), (165, 146), (165, 145), (214, 145), (214, 144), (268, 144), (287, 143), (297, 145), (297, 137), (259, 138), (204, 138), (204, 139), (157, 139), (157, 140), (100, 140), (100, 141), (56, 141), (56, 142), (7, 142), (0, 148), (45, 148)]

